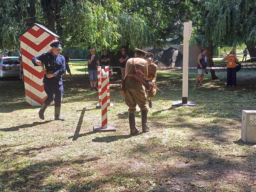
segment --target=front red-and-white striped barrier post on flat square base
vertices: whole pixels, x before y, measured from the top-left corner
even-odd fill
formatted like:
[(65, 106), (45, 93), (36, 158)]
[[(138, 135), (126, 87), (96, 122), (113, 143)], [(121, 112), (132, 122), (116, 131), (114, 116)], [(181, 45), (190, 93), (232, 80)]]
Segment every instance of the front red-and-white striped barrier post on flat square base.
[[(98, 70), (101, 69), (101, 67), (98, 67)], [(108, 86), (109, 86), (109, 76), (108, 76), (108, 70), (101, 69), (98, 71), (98, 80), (100, 82), (99, 87), (99, 100), (100, 100), (100, 106), (101, 106), (101, 125), (94, 125), (93, 131), (94, 132), (101, 132), (101, 131), (116, 131), (115, 126), (108, 125)]]

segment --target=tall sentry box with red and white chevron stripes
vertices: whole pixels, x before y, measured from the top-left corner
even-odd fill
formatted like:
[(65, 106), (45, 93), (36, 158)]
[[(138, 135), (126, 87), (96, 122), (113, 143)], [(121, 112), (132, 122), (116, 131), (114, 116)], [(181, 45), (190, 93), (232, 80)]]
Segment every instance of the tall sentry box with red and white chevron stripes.
[(20, 35), (26, 104), (40, 106), (47, 98), (44, 91), (44, 72), (41, 66), (34, 66), (31, 59), (46, 51), (52, 51), (50, 44), (59, 36), (40, 24), (34, 23)]

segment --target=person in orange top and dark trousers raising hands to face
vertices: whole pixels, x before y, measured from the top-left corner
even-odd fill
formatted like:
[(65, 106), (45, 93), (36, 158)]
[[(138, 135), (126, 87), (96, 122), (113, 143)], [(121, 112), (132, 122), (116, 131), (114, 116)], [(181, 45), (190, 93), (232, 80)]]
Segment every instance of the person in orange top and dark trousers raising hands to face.
[(236, 62), (238, 59), (236, 53), (231, 51), (226, 57), (223, 58), (223, 61), (227, 61), (227, 86), (236, 86)]

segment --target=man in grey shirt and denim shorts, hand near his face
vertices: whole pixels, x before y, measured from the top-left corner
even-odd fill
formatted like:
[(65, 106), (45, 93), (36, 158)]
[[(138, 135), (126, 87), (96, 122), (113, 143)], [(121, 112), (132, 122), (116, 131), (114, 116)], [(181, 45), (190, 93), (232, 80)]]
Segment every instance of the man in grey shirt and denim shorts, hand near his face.
[(95, 49), (90, 49), (90, 54), (88, 55), (88, 73), (89, 81), (91, 84), (91, 91), (98, 91), (96, 88), (97, 84), (97, 66), (99, 65), (98, 54), (95, 53)]

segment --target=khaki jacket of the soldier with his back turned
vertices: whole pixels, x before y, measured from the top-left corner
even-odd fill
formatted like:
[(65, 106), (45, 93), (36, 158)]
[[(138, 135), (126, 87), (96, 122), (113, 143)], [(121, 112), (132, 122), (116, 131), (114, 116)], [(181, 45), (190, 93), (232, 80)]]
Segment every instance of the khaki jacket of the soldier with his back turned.
[[(126, 62), (125, 67), (125, 74), (127, 74), (128, 70), (130, 69), (131, 65), (133, 64), (133, 61), (135, 63), (136, 69), (140, 70), (145, 74), (145, 77), (148, 76), (148, 62), (145, 59), (134, 57), (128, 59)], [(135, 67), (131, 67), (131, 70), (128, 72), (128, 74), (136, 74)], [(142, 83), (140, 83), (138, 80), (136, 80), (134, 77), (125, 77), (125, 88), (130, 89), (139, 89), (139, 90), (145, 90)]]

